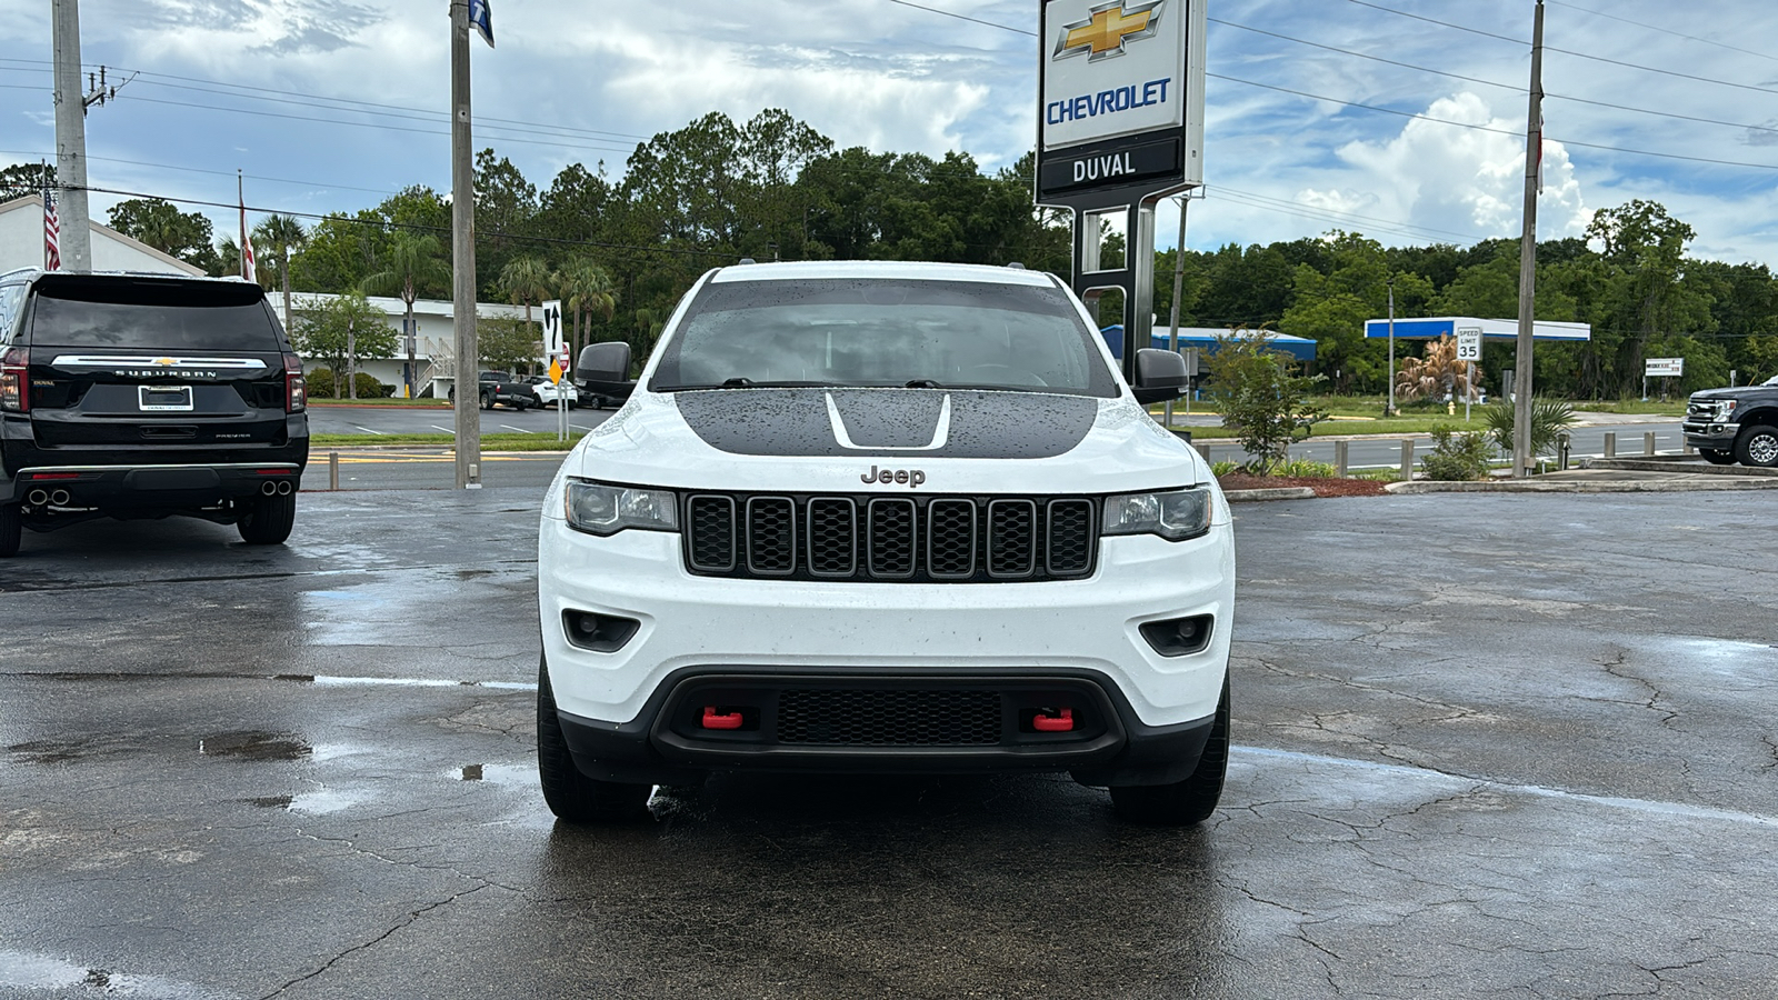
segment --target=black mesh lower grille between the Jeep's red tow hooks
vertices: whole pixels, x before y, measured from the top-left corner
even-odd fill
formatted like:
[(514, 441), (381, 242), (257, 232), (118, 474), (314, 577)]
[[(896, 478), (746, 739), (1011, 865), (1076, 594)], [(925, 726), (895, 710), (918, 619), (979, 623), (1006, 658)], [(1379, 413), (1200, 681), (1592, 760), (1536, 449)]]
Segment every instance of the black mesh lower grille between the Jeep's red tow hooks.
[(996, 746), (1001, 728), (1001, 699), (992, 690), (789, 689), (779, 698), (777, 742)]

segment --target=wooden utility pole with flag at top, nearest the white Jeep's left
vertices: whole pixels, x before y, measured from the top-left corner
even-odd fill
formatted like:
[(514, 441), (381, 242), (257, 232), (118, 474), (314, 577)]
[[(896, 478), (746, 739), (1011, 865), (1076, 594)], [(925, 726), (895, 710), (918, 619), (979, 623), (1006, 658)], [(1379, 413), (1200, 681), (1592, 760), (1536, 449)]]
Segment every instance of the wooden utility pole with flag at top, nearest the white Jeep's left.
[(469, 133), (469, 0), (450, 4), (452, 322), (457, 340), (457, 489), (482, 488), (475, 342), (475, 164)]

